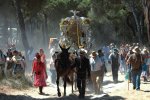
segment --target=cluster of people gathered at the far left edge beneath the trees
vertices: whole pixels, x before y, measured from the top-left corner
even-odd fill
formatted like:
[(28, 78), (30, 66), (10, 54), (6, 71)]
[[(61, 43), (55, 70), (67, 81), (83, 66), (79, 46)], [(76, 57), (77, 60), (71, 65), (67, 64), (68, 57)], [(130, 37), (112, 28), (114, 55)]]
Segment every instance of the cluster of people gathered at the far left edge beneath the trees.
[(7, 52), (0, 50), (0, 67), (3, 77), (7, 77), (5, 67), (12, 76), (23, 75), (26, 67), (25, 57), (16, 49), (9, 48)]

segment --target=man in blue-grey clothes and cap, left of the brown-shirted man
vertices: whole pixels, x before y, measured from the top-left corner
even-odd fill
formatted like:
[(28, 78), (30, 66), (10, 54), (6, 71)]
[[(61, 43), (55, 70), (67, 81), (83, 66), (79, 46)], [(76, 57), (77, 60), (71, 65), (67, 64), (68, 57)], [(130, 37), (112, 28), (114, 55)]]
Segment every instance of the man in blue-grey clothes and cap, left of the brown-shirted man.
[(109, 63), (111, 64), (112, 77), (114, 83), (118, 83), (118, 70), (119, 70), (119, 54), (116, 48), (113, 49), (113, 52), (109, 55)]

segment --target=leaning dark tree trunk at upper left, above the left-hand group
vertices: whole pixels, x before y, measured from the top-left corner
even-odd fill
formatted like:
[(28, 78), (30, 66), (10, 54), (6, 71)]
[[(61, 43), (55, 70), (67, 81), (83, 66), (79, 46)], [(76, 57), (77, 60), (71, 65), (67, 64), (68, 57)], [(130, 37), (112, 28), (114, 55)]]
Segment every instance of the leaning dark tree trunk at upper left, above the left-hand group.
[(22, 43), (23, 43), (25, 52), (27, 54), (27, 51), (29, 49), (29, 43), (28, 43), (27, 36), (26, 36), (25, 23), (24, 23), (23, 14), (21, 12), (20, 0), (13, 0), (13, 3), (16, 8), (16, 16), (17, 16), (18, 25), (21, 31)]

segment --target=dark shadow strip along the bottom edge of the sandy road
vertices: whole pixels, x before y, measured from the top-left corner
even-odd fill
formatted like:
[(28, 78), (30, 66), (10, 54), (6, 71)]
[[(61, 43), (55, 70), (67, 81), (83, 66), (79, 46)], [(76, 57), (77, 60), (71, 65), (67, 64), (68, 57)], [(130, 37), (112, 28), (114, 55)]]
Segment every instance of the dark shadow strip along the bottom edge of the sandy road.
[(85, 99), (78, 99), (77, 95), (71, 94), (65, 97), (47, 97), (46, 99), (36, 99), (30, 96), (25, 95), (6, 95), (0, 93), (0, 100), (125, 100), (125, 98), (120, 96), (109, 96), (105, 95), (97, 95), (97, 96), (86, 96)]

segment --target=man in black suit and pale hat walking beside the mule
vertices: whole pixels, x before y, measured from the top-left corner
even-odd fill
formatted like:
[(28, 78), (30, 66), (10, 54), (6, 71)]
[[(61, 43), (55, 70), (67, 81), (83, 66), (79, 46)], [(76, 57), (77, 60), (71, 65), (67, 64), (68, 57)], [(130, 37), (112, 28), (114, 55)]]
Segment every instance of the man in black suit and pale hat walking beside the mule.
[(86, 75), (90, 79), (90, 63), (89, 59), (85, 56), (85, 52), (83, 50), (79, 51), (79, 57), (76, 59), (77, 62), (77, 88), (79, 91), (79, 98), (85, 97), (85, 87), (86, 87)]

